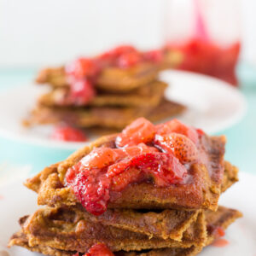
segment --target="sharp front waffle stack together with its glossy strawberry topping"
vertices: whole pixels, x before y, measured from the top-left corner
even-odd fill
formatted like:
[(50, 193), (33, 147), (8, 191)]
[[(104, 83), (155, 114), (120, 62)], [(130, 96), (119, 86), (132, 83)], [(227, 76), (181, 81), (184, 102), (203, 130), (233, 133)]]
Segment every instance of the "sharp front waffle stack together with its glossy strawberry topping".
[(9, 245), (46, 255), (195, 255), (241, 217), (218, 207), (238, 171), (224, 144), (177, 119), (137, 119), (27, 180), (46, 207), (20, 218)]

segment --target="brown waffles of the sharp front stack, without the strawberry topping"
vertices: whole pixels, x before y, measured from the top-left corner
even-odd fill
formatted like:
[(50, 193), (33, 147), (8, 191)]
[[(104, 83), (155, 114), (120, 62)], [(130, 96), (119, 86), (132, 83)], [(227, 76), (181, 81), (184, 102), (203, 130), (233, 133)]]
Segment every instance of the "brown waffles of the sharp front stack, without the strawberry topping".
[(201, 160), (193, 164), (186, 183), (167, 187), (131, 183), (110, 193), (108, 209), (101, 215), (87, 212), (65, 182), (67, 170), (92, 150), (115, 148), (116, 137), (102, 137), (26, 181), (44, 207), (20, 218), (21, 230), (12, 236), (10, 246), (46, 255), (82, 255), (104, 243), (114, 255), (189, 256), (201, 252), (241, 217), (241, 212), (218, 206), (219, 195), (238, 180), (238, 170), (224, 161), (224, 137), (206, 134), (201, 134), (198, 150), (208, 164)]

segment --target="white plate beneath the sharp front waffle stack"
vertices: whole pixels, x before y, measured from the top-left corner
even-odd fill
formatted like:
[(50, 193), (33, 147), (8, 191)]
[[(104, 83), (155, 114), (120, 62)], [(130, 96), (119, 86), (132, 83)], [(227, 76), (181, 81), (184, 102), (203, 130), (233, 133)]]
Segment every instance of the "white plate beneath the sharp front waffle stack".
[[(241, 172), (240, 182), (236, 183), (222, 195), (220, 204), (232, 207), (243, 212), (244, 217), (230, 225), (226, 231), (225, 239), (230, 241), (226, 247), (207, 247), (201, 256), (213, 255), (247, 255), (256, 254), (256, 176)], [(0, 188), (0, 247), (10, 256), (32, 256), (38, 253), (30, 253), (20, 247), (6, 247), (9, 237), (17, 230), (18, 218), (32, 213), (37, 208), (36, 194), (22, 186), (21, 181), (13, 185)], [(1, 251), (1, 248), (0, 248)], [(2, 256), (2, 254), (0, 253)], [(5, 254), (3, 254), (5, 256)]]

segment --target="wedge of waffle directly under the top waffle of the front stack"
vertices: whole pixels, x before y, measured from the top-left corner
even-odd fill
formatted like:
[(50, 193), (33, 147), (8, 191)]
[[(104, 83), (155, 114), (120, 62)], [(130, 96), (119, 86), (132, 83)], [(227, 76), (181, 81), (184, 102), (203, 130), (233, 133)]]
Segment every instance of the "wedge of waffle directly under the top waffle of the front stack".
[[(195, 222), (200, 211), (163, 210), (160, 212), (132, 209), (108, 209), (100, 216), (73, 207), (79, 219), (141, 233), (150, 237), (181, 241), (183, 232)], [(67, 209), (66, 209), (67, 211)]]

